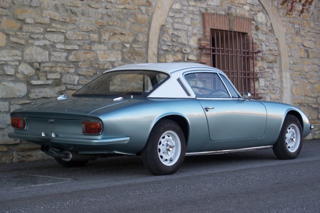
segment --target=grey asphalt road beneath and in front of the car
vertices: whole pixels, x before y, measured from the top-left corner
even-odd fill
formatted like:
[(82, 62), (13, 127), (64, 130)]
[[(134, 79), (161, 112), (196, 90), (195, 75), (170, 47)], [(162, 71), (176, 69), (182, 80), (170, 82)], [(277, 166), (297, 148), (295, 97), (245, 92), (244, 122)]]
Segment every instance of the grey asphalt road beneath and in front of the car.
[(63, 168), (55, 161), (0, 165), (0, 212), (320, 212), (320, 140), (298, 158), (271, 149), (186, 157), (152, 176), (137, 157)]

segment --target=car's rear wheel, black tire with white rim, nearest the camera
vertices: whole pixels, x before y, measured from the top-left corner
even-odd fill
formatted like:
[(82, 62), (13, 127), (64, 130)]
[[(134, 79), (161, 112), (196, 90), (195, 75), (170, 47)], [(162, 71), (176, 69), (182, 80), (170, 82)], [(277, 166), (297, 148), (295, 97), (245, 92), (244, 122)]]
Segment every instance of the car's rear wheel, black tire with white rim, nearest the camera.
[[(170, 144), (174, 144), (175, 146), (171, 146)], [(170, 150), (171, 148), (172, 151)], [(163, 150), (166, 150), (166, 153), (162, 152)], [(169, 156), (170, 152), (171, 157)], [(180, 126), (171, 120), (160, 120), (154, 125), (141, 152), (144, 167), (154, 175), (170, 175), (175, 173), (181, 167), (184, 155), (184, 134)], [(170, 159), (168, 160), (168, 158)]]

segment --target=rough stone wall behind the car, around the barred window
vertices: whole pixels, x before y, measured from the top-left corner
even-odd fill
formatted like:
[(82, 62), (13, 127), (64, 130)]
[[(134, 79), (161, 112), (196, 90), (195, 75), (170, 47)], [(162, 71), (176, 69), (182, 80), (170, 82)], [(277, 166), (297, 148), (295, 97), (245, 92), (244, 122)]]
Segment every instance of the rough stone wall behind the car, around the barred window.
[[(169, 2), (166, 15), (159, 5)], [(308, 139), (320, 138), (320, 3), (314, 1), (301, 16), (285, 15), (276, 0), (274, 5), (285, 26), (289, 70), (284, 71), (278, 29), (263, 0), (0, 0), (0, 163), (47, 158), (38, 146), (7, 137), (14, 109), (70, 96), (102, 71), (148, 57), (197, 62), (204, 12), (252, 19), (251, 34), (263, 56), (255, 66), (263, 72), (256, 82), (259, 94), (272, 101), (288, 95), (315, 126)], [(163, 14), (159, 39), (149, 40), (151, 25)], [(158, 47), (152, 56), (151, 45)], [(283, 76), (290, 82), (288, 93)]]

